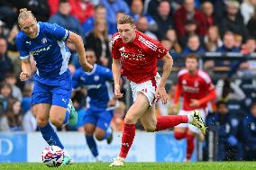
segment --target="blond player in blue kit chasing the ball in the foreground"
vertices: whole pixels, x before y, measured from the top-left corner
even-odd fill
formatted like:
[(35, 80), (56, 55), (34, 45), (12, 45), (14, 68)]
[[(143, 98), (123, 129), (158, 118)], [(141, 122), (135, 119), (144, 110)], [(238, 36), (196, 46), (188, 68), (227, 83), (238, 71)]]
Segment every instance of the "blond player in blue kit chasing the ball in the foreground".
[[(77, 34), (57, 24), (37, 22), (32, 12), (26, 8), (20, 10), (18, 23), (21, 31), (15, 42), (22, 59), (20, 79), (26, 81), (32, 76), (32, 57), (37, 67), (32, 91), (33, 112), (37, 124), (43, 139), (49, 145), (64, 149), (50, 122), (61, 127), (68, 121), (71, 125), (78, 121), (77, 112), (69, 100), (72, 76), (68, 68), (70, 52), (65, 42), (68, 40), (75, 44), (80, 64), (85, 71), (91, 71), (93, 66), (87, 63), (83, 40)], [(62, 166), (69, 165), (70, 161), (71, 157), (65, 151)]]

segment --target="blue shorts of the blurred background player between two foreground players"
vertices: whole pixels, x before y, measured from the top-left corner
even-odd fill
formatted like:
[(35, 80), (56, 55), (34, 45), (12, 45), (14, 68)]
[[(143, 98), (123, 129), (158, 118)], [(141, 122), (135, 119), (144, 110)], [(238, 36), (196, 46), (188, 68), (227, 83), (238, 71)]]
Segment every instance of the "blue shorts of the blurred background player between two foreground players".
[(113, 111), (92, 111), (87, 109), (83, 118), (83, 124), (94, 124), (97, 128), (107, 130), (113, 118)]

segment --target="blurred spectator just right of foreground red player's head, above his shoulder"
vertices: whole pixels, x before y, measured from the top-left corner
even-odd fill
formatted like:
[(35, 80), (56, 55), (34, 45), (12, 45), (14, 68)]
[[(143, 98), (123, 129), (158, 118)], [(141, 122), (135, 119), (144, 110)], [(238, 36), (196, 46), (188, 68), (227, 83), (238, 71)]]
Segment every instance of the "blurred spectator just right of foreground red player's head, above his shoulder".
[(158, 40), (158, 37), (151, 31), (149, 31), (148, 20), (145, 16), (138, 18), (138, 20), (136, 22), (136, 27), (137, 27), (138, 31), (142, 31), (144, 34), (148, 35), (152, 39)]

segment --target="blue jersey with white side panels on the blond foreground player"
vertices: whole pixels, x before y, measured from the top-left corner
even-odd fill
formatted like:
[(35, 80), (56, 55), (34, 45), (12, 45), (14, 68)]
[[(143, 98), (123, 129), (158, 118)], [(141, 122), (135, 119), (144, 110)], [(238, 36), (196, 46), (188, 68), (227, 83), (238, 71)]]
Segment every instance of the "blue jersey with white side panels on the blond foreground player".
[(17, 35), (15, 42), (20, 58), (34, 58), (37, 67), (35, 78), (57, 79), (69, 76), (68, 64), (70, 52), (65, 45), (69, 31), (57, 24), (38, 22), (38, 35), (29, 38), (23, 31)]

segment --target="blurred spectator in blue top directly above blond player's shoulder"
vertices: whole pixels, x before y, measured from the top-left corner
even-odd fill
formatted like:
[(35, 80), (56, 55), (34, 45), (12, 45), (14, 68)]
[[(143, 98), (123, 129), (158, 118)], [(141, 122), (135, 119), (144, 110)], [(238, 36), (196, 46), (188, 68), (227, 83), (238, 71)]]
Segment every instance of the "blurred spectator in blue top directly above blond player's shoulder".
[(71, 6), (68, 0), (59, 1), (59, 11), (58, 13), (50, 17), (50, 23), (57, 23), (63, 28), (73, 31), (80, 36), (84, 36), (83, 29), (78, 22), (78, 19), (70, 14)]

